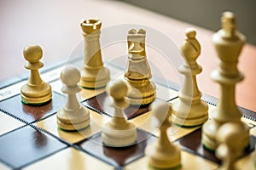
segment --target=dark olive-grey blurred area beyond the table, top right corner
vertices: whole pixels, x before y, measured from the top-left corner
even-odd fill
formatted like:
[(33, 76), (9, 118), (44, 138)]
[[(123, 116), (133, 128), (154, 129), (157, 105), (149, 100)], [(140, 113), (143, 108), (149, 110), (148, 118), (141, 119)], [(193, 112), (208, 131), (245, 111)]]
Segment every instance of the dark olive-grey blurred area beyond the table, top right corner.
[(224, 11), (234, 12), (238, 29), (247, 36), (247, 42), (256, 45), (255, 0), (120, 0), (177, 20), (207, 28), (219, 29), (219, 17)]

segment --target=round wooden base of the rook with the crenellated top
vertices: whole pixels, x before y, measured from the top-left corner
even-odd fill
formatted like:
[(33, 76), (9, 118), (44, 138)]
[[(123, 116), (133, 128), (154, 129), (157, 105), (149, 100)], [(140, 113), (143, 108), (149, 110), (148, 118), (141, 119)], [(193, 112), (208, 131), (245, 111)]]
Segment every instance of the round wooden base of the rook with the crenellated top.
[(90, 70), (84, 68), (80, 85), (82, 88), (105, 88), (110, 80), (110, 73), (108, 68), (102, 67), (101, 70)]

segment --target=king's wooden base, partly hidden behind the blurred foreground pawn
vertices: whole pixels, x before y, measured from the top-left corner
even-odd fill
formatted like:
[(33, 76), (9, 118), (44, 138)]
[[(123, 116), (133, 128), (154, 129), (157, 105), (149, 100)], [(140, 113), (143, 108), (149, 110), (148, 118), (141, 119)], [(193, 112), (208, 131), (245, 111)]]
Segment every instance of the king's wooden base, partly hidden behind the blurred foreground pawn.
[[(206, 122), (202, 127), (202, 143), (207, 150), (216, 150), (218, 147), (218, 142), (216, 140), (216, 133), (218, 132), (218, 128), (223, 125), (224, 123), (218, 123), (213, 119)], [(250, 144), (250, 135), (249, 135), (249, 128), (246, 124), (241, 122), (241, 131), (243, 131), (244, 135), (241, 141), (241, 145), (243, 148), (247, 148), (248, 144)]]

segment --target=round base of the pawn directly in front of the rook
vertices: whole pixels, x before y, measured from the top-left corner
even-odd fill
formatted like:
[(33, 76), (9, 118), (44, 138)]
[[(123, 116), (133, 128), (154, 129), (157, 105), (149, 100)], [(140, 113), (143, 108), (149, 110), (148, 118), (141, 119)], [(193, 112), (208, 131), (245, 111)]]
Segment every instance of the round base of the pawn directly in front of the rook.
[[(73, 113), (71, 113), (73, 112)], [(84, 107), (79, 111), (66, 111), (65, 108), (57, 112), (57, 124), (65, 131), (79, 131), (90, 126), (90, 114)]]

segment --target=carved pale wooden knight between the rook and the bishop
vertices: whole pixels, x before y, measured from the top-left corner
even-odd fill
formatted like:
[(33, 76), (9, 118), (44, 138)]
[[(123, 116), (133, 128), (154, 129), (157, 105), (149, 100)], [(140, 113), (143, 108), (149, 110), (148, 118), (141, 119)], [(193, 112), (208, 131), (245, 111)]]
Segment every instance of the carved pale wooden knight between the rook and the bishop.
[(127, 98), (130, 105), (148, 105), (155, 99), (155, 85), (145, 51), (146, 31), (131, 29), (127, 37), (128, 63), (125, 81), (128, 86)]

